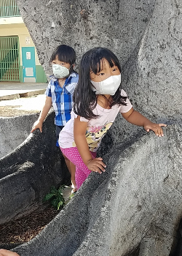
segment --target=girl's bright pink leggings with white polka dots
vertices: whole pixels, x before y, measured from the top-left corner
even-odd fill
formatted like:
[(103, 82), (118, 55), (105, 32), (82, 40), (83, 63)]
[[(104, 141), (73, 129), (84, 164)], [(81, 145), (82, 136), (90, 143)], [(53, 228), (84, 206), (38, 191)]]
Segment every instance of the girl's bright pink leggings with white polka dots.
[[(79, 154), (79, 151), (76, 147), (74, 148), (60, 148), (63, 154), (76, 166), (76, 173), (75, 173), (75, 181), (76, 187), (82, 185), (82, 183), (86, 180), (86, 178), (90, 175), (92, 170), (89, 170), (82, 160), (82, 157)], [(96, 157), (96, 152), (91, 152), (92, 158)]]

